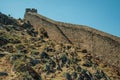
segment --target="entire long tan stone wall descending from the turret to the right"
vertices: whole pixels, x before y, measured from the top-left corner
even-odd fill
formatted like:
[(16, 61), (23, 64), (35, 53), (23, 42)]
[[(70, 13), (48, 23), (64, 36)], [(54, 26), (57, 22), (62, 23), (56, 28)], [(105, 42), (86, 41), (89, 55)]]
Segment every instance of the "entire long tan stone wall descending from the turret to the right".
[[(51, 40), (86, 48), (109, 64), (120, 67), (120, 38), (82, 26), (60, 23), (36, 13), (26, 13), (25, 20), (37, 29), (44, 27)], [(59, 29), (58, 29), (59, 28)]]

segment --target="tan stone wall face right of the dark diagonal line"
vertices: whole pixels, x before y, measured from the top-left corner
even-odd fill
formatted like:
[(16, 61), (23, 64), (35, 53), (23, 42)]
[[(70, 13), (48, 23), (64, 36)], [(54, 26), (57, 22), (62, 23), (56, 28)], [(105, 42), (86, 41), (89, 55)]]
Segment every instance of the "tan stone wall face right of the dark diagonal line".
[(104, 59), (105, 62), (120, 66), (120, 42), (85, 29), (60, 27), (68, 38), (82, 48)]

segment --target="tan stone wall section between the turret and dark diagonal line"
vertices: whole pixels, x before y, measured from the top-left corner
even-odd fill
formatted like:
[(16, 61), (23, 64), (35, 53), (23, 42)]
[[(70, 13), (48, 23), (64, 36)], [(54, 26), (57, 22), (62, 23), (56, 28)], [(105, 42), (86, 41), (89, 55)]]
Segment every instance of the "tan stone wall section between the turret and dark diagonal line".
[(39, 18), (35, 15), (32, 15), (30, 13), (27, 13), (25, 15), (25, 20), (26, 21), (30, 21), (30, 23), (37, 29), (39, 30), (39, 28), (44, 27), (44, 29), (48, 32), (48, 36), (50, 37), (51, 40), (54, 40), (57, 42), (65, 42), (65, 43), (69, 43), (66, 38), (61, 35), (60, 30), (58, 30), (58, 28), (56, 27), (55, 24), (51, 24), (47, 21), (45, 21), (42, 18)]

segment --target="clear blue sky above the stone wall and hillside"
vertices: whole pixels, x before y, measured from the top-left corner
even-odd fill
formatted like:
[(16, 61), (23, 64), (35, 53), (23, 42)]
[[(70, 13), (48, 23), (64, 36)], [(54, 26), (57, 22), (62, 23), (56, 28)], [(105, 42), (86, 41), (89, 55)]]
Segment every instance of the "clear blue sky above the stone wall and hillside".
[(120, 37), (120, 0), (0, 0), (0, 12), (15, 18), (23, 18), (25, 8), (36, 8), (48, 18)]

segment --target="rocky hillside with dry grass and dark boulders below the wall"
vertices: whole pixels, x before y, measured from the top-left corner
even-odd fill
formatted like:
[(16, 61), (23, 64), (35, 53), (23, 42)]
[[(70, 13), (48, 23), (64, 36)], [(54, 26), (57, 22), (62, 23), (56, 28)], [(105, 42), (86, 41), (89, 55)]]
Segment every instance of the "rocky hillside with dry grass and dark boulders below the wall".
[(59, 27), (50, 29), (58, 38), (46, 27), (0, 13), (0, 80), (120, 80), (118, 67), (74, 45)]

